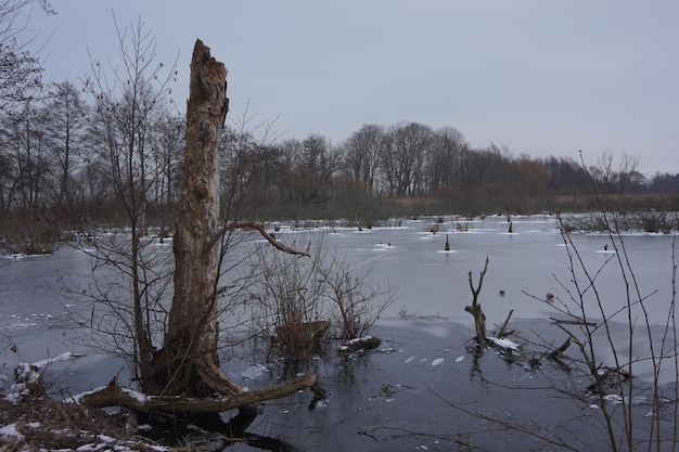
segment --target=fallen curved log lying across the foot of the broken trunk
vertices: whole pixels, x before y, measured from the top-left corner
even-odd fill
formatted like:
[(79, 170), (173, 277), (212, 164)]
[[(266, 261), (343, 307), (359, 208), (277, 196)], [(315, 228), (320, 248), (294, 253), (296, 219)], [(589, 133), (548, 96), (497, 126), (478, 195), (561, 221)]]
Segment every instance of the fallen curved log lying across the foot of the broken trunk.
[(230, 397), (215, 398), (146, 396), (113, 384), (94, 392), (86, 393), (77, 401), (94, 408), (125, 406), (141, 413), (220, 413), (241, 406), (254, 405), (265, 400), (279, 399), (306, 388), (317, 390), (316, 374), (306, 374), (267, 388), (253, 389)]

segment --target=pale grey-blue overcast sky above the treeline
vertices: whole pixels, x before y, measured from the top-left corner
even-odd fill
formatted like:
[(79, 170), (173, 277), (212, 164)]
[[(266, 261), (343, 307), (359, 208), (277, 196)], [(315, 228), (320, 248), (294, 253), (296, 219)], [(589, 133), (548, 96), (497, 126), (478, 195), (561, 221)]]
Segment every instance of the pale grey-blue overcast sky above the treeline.
[(30, 26), (46, 76), (78, 82), (89, 53), (117, 64), (140, 20), (158, 61), (196, 38), (228, 70), (230, 116), (249, 102), (284, 138), (338, 143), (363, 124), (454, 127), (474, 147), (588, 163), (608, 150), (679, 172), (679, 1), (50, 0)]

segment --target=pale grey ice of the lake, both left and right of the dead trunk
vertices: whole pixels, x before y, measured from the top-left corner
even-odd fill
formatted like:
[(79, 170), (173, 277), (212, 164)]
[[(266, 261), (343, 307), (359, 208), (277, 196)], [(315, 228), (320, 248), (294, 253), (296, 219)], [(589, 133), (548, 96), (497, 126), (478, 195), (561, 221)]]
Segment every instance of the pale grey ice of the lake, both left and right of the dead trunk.
[[(479, 301), (489, 330), (494, 324), (501, 324), (510, 310), (514, 311), (512, 321), (563, 318), (555, 306), (577, 312), (577, 305), (568, 294), (576, 293), (569, 272), (568, 247), (564, 245), (555, 218), (513, 217), (512, 223), (513, 232), (508, 233), (504, 217), (469, 223), (450, 219), (443, 223), (431, 219), (401, 220), (390, 228), (362, 231), (326, 228), (324, 242), (330, 247), (336, 246), (340, 255), (346, 254), (357, 268), (370, 268), (373, 284), (396, 288), (397, 299), (377, 322), (382, 326), (398, 324), (403, 317), (409, 317), (437, 318), (473, 327), (472, 317), (464, 311), (464, 306), (471, 302), (467, 272), (473, 272), (476, 284), (486, 257), (490, 263)], [(460, 231), (458, 224), (465, 230)], [(438, 232), (432, 233), (432, 228), (437, 228)], [(318, 232), (282, 228), (278, 236), (285, 242), (300, 234)], [(446, 240), (450, 251), (444, 250)], [(306, 237), (299, 240), (306, 241)], [(623, 237), (626, 256), (620, 243), (617, 243), (620, 256), (613, 251), (614, 246), (606, 235), (576, 234), (573, 241), (586, 268), (595, 275), (595, 288), (608, 315), (623, 309), (614, 320), (627, 321), (624, 308), (628, 294), (617, 259), (620, 257), (625, 266), (629, 259), (641, 297), (648, 297), (644, 306), (650, 324), (656, 328), (665, 325), (671, 301), (672, 236), (626, 235)], [(606, 244), (608, 250), (604, 250)], [(64, 246), (53, 256), (5, 257), (0, 263), (0, 335), (18, 349), (17, 353), (12, 353), (4, 348), (1, 358), (5, 365), (17, 360), (31, 362), (63, 351), (77, 351), (67, 335), (62, 334), (56, 319), (63, 318), (64, 309), (69, 306), (61, 288), (82, 284), (78, 280), (91, 271), (90, 258)], [(575, 274), (585, 287), (582, 272), (576, 268)], [(625, 275), (631, 284), (632, 274), (627, 268)], [(629, 290), (630, 299), (636, 300), (635, 287)], [(554, 294), (553, 304), (543, 301), (548, 293)], [(588, 290), (584, 300), (588, 314), (600, 319), (593, 290)], [(632, 317), (641, 326), (643, 318), (638, 307)], [(426, 322), (421, 325), (427, 328)], [(432, 322), (427, 333), (436, 334), (435, 325)], [(624, 338), (620, 340), (624, 343)], [(92, 365), (99, 364), (93, 362)]]

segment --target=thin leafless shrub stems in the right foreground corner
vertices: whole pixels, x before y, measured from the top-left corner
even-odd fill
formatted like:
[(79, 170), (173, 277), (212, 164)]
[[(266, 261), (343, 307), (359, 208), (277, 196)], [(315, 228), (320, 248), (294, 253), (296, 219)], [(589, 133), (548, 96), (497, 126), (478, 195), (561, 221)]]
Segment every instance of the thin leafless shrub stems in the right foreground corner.
[[(580, 250), (573, 242), (571, 233), (564, 233), (563, 238), (567, 249), (568, 263), (572, 273), (569, 284), (561, 283), (568, 294), (565, 301), (558, 300), (555, 309), (568, 319), (567, 325), (560, 327), (568, 338), (577, 345), (580, 371), (588, 375), (591, 384), (588, 387), (591, 396), (602, 413), (604, 430), (608, 438), (612, 451), (635, 450), (676, 450), (679, 421), (677, 419), (677, 403), (674, 403), (674, 438), (662, 437), (661, 424), (669, 400), (662, 390), (661, 372), (669, 366), (677, 375), (679, 370), (679, 353), (677, 351), (677, 320), (676, 320), (676, 275), (675, 241), (672, 241), (671, 266), (671, 298), (667, 302), (667, 322), (662, 325), (659, 337), (654, 334), (654, 325), (649, 315), (649, 304), (655, 290), (643, 293), (640, 282), (635, 274), (631, 257), (625, 247), (625, 236), (616, 224), (608, 222), (610, 217), (602, 212), (602, 221), (606, 224), (608, 241), (613, 254), (601, 268), (590, 269)], [(562, 228), (564, 230), (564, 228)], [(605, 307), (605, 287), (598, 283), (598, 276), (603, 267), (614, 264), (626, 288), (626, 299), (622, 308), (611, 311)], [(593, 304), (594, 312), (590, 307)], [(616, 341), (613, 333), (615, 322), (623, 320), (626, 328), (626, 341)], [(603, 336), (600, 340), (599, 337)], [(604, 357), (612, 357), (612, 363), (605, 363)], [(638, 365), (650, 365), (652, 370), (651, 395), (648, 397), (651, 418), (650, 431), (639, 434), (635, 426), (633, 410), (638, 396), (638, 388), (633, 384), (635, 369)], [(678, 388), (675, 385), (675, 401), (678, 400)], [(612, 401), (614, 403), (612, 403)], [(646, 438), (639, 438), (645, 435)], [(640, 445), (641, 444), (641, 445)], [(669, 445), (671, 444), (671, 445)], [(670, 447), (670, 449), (667, 449)]]

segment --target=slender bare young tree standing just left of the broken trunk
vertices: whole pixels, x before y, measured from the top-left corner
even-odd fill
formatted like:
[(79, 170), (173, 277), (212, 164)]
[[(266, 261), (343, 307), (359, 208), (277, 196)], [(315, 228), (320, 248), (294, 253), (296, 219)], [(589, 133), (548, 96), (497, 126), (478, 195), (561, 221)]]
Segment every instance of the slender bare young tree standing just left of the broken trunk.
[[(115, 23), (115, 17), (114, 17)], [(112, 179), (118, 208), (129, 229), (130, 241), (119, 237), (97, 240), (95, 258), (102, 266), (116, 268), (129, 283), (132, 307), (126, 333), (133, 345), (131, 369), (137, 378), (151, 373), (154, 340), (165, 331), (153, 312), (164, 310), (164, 287), (169, 272), (163, 259), (152, 247), (148, 235), (146, 216), (157, 199), (153, 188), (167, 169), (154, 158), (157, 132), (168, 117), (170, 83), (175, 80), (175, 64), (157, 62), (155, 40), (140, 21), (133, 27), (120, 28), (115, 23), (119, 44), (119, 66), (111, 64), (108, 74), (101, 62), (90, 59), (92, 74), (85, 80), (85, 89), (94, 100), (91, 134), (99, 144), (100, 162)], [(164, 273), (163, 273), (164, 272)], [(110, 290), (101, 290), (110, 294)], [(126, 312), (115, 309), (116, 312)], [(114, 315), (115, 317), (115, 315)], [(108, 325), (107, 331), (117, 326)]]

